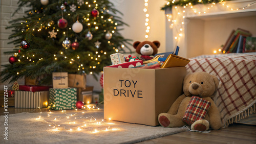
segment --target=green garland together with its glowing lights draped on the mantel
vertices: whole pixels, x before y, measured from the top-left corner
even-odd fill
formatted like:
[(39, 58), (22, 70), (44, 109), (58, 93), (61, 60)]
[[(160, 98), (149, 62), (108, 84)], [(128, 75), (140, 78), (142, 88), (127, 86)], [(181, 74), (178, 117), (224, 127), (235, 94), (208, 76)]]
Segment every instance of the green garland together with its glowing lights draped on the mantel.
[[(233, 1), (233, 0), (226, 0), (226, 1)], [(198, 9), (200, 5), (197, 5), (197, 4), (205, 4), (205, 5), (201, 5), (203, 8)], [(210, 0), (209, 1), (171, 0), (165, 4), (162, 10), (167, 10), (166, 12), (169, 12), (168, 14), (166, 14), (166, 18), (170, 22), (169, 27), (171, 29), (174, 29), (177, 33), (176, 36), (174, 36), (174, 39), (176, 42), (175, 44), (177, 45), (180, 37), (182, 37), (184, 34), (183, 30), (184, 30), (184, 25), (186, 24), (185, 15), (187, 14), (187, 12), (189, 12), (190, 14), (194, 12), (195, 14), (198, 14), (198, 15), (204, 15), (208, 13), (211, 9), (215, 8), (217, 5), (225, 7), (228, 11), (240, 11), (240, 10), (245, 10), (246, 8), (249, 8), (251, 5), (255, 5), (255, 4), (256, 4), (256, 1), (252, 1), (250, 3), (248, 2), (248, 4), (245, 4), (244, 6), (233, 7), (226, 4), (224, 0), (216, 1), (216, 2), (210, 1)], [(194, 5), (197, 5), (198, 7)], [(219, 49), (219, 50), (215, 50), (214, 54), (217, 54), (217, 51), (221, 53), (221, 49)]]

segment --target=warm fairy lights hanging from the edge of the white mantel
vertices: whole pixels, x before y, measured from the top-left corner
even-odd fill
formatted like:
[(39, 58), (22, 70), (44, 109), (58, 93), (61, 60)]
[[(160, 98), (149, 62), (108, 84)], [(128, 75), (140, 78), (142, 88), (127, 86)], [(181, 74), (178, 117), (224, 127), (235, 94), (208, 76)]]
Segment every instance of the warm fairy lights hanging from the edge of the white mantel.
[[(172, 2), (167, 2), (166, 5), (169, 6), (170, 3), (175, 3), (176, 1), (173, 0)], [(202, 3), (202, 0), (199, 0), (198, 1), (199, 3)], [(166, 14), (166, 19), (170, 22), (170, 28), (173, 29), (175, 28), (176, 32), (177, 32), (177, 35), (174, 36), (175, 40), (176, 40), (176, 45), (178, 43), (178, 40), (180, 37), (183, 36), (182, 34), (182, 30), (184, 29), (184, 25), (186, 24), (185, 23), (185, 15), (186, 15), (186, 12), (188, 11), (191, 11), (191, 12), (194, 12), (198, 15), (204, 15), (204, 14), (207, 14), (211, 9), (214, 9), (217, 5), (222, 5), (223, 7), (225, 7), (228, 11), (235, 11), (235, 10), (245, 10), (247, 7), (250, 7), (251, 5), (255, 4), (256, 2), (252, 2), (250, 4), (247, 4), (243, 7), (239, 7), (239, 8), (234, 8), (232, 6), (230, 6), (228, 3), (224, 2), (224, 1), (220, 1), (219, 3), (210, 3), (210, 4), (207, 4), (207, 6), (205, 5), (205, 9), (203, 10), (199, 10), (198, 7), (194, 7), (191, 3), (187, 3), (185, 4), (183, 7), (183, 9), (179, 9), (178, 7), (179, 6), (173, 6), (174, 8), (174, 11), (176, 12), (176, 15), (173, 15), (172, 13), (171, 14)], [(190, 9), (190, 10), (188, 10)], [(191, 13), (190, 13), (191, 14)], [(215, 50), (213, 51), (214, 54), (217, 54), (218, 52), (221, 52), (221, 49), (219, 50)]]

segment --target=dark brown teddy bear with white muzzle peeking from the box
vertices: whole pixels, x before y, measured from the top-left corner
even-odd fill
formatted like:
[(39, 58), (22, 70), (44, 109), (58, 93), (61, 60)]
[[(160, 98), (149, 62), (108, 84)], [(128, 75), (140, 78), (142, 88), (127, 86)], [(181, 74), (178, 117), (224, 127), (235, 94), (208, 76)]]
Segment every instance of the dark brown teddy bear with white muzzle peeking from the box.
[(140, 54), (143, 61), (151, 60), (155, 54), (157, 54), (157, 49), (160, 46), (159, 41), (135, 41), (133, 43), (136, 53)]

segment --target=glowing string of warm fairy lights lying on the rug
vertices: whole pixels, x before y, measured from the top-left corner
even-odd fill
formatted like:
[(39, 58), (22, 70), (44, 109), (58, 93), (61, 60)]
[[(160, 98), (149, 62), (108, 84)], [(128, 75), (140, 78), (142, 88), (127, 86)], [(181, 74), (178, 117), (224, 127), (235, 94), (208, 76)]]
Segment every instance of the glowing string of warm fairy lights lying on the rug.
[[(48, 107), (49, 109), (50, 107)], [(85, 107), (86, 109), (74, 109), (74, 110), (62, 110), (62, 111), (51, 111), (39, 113), (39, 118), (36, 118), (37, 121), (44, 121), (51, 128), (51, 131), (69, 131), (69, 132), (78, 132), (78, 131), (88, 131), (95, 134), (100, 134), (102, 132), (110, 132), (120, 130), (118, 128), (111, 128), (114, 123), (111, 123), (111, 118), (106, 120), (98, 120), (92, 114), (93, 111), (100, 110), (95, 106), (90, 108)], [(90, 116), (87, 116), (89, 115)], [(41, 117), (42, 115), (42, 117)], [(46, 115), (46, 116), (44, 116)], [(101, 126), (101, 127), (99, 127)]]

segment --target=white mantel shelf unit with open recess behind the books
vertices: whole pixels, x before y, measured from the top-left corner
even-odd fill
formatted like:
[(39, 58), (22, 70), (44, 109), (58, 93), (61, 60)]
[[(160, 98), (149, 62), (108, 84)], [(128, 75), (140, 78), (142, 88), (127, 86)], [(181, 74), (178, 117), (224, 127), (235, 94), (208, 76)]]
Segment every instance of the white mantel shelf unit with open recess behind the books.
[[(210, 5), (196, 5), (193, 9), (186, 10), (183, 20), (182, 17), (177, 18), (177, 21), (184, 21), (183, 26), (176, 26), (183, 28), (182, 36), (178, 37), (178, 40), (174, 39), (179, 33), (177, 28), (174, 28), (166, 35), (166, 39), (172, 38), (173, 46), (179, 45), (181, 47), (180, 56), (191, 58), (214, 54), (215, 50), (222, 49), (221, 45), (225, 44), (230, 32), (237, 28), (248, 30), (253, 37), (256, 37), (256, 3), (245, 9), (230, 10), (231, 7), (241, 8), (253, 2), (255, 1), (227, 1), (225, 6), (215, 5), (205, 14), (195, 13), (194, 11), (203, 12)], [(173, 8), (173, 15), (183, 10), (183, 8), (178, 8), (178, 10)], [(173, 50), (166, 48), (166, 51)], [(217, 51), (217, 54), (220, 53)]]

